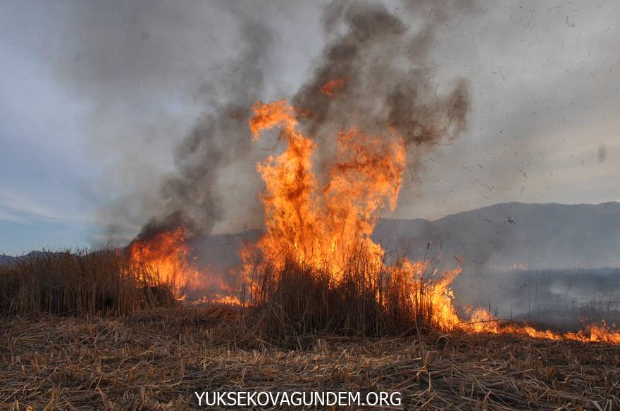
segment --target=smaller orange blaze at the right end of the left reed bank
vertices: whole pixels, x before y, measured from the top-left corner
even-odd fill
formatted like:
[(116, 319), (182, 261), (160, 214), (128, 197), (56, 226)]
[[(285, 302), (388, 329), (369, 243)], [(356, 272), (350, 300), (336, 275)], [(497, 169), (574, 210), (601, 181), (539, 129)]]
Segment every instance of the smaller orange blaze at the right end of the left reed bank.
[(182, 227), (150, 239), (136, 239), (128, 251), (134, 263), (146, 267), (157, 282), (170, 285), (178, 298), (199, 283), (200, 273), (188, 260), (190, 247)]

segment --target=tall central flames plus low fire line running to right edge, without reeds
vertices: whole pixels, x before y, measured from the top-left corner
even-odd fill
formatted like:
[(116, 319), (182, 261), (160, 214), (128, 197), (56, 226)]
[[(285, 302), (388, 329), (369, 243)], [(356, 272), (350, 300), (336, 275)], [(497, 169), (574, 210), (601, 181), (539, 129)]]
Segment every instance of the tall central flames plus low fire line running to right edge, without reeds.
[[(344, 79), (331, 80), (321, 91), (331, 96), (344, 84)], [(277, 264), (278, 255), (292, 253), (299, 262), (328, 270), (337, 282), (347, 257), (361, 248), (370, 256), (366, 270), (386, 270), (390, 275), (399, 274), (398, 270), (408, 273), (408, 281), (415, 284), (411, 287), (414, 295), (409, 298), (417, 308), (432, 308), (432, 323), (440, 329), (620, 343), (620, 331), (606, 324), (558, 334), (507, 324), (483, 308), (471, 310), (469, 320), (459, 317), (450, 285), (460, 274), (460, 267), (438, 272), (430, 269), (429, 261), (409, 260), (403, 260), (398, 267), (386, 267), (385, 251), (371, 239), (380, 212), (397, 205), (406, 167), (402, 137), (390, 127), (380, 136), (355, 127), (343, 130), (337, 136), (337, 160), (319, 178), (313, 169), (316, 144), (297, 127), (296, 116), (303, 110), (287, 105), (285, 100), (257, 102), (253, 110), (249, 128), (254, 141), (264, 130), (275, 128), (285, 149), (257, 165), (265, 182), (261, 201), (266, 233), (241, 251), (246, 272), (251, 270), (256, 254)]]

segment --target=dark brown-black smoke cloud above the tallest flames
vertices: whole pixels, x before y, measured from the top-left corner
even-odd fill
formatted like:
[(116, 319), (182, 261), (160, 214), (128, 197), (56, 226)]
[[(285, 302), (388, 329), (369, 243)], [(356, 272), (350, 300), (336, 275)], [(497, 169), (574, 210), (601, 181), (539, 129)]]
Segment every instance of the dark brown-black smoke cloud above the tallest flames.
[[(423, 12), (421, 2), (409, 6)], [(438, 18), (425, 16), (421, 30), (410, 34), (382, 5), (336, 3), (325, 8), (325, 30), (335, 30), (338, 18), (345, 33), (328, 44), (314, 76), (294, 97), (296, 106), (309, 110), (305, 125), (310, 135), (325, 137), (352, 125), (383, 133), (392, 127), (407, 144), (431, 146), (464, 131), (469, 107), (465, 80), (457, 80), (447, 95), (428, 87)], [(345, 80), (342, 90), (335, 96), (321, 92), (334, 79)]]

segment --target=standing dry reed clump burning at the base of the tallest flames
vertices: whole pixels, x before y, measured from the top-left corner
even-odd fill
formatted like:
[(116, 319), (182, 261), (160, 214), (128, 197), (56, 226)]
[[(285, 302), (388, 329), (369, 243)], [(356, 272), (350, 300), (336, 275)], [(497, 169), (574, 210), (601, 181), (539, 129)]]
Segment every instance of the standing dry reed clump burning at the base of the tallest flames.
[(434, 315), (442, 298), (433, 263), (415, 267), (404, 258), (376, 263), (364, 248), (351, 253), (338, 272), (283, 253), (257, 262), (242, 296), (254, 321), (271, 339), (305, 334), (387, 336), (441, 327)]

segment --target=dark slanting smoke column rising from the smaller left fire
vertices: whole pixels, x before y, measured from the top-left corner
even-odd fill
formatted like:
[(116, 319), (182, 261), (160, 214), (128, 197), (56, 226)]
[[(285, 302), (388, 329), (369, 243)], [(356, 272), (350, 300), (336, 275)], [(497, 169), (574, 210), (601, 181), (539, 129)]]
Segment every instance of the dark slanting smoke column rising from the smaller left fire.
[(268, 58), (265, 50), (271, 34), (257, 23), (244, 25), (243, 34), (247, 45), (230, 68), (228, 101), (214, 103), (213, 112), (204, 115), (182, 141), (176, 151), (178, 172), (163, 182), (160, 191), (166, 210), (163, 220), (187, 215), (179, 223), (196, 235), (208, 235), (223, 213), (216, 189), (219, 170), (234, 159), (247, 157), (252, 148), (249, 110), (263, 90), (261, 60)]

